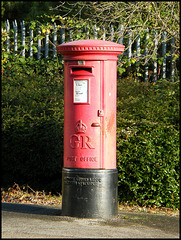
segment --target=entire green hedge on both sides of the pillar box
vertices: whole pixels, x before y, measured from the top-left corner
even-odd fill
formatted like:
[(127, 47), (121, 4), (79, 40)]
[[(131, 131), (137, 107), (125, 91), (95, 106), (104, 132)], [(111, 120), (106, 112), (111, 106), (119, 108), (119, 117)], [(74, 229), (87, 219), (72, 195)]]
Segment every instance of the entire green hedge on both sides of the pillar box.
[[(32, 71), (2, 78), (2, 186), (61, 192), (63, 81), (48, 60), (22, 64)], [(179, 83), (122, 79), (117, 92), (119, 201), (179, 208)]]

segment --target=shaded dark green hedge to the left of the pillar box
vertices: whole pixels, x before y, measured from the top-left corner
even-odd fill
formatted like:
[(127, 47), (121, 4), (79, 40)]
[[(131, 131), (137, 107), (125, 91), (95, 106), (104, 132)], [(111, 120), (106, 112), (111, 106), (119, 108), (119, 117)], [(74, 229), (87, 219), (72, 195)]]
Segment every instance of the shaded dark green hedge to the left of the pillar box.
[(44, 61), (44, 67), (40, 64), (41, 74), (4, 72), (3, 186), (27, 183), (35, 189), (61, 192), (64, 85), (56, 71), (49, 74), (48, 65), (49, 61)]

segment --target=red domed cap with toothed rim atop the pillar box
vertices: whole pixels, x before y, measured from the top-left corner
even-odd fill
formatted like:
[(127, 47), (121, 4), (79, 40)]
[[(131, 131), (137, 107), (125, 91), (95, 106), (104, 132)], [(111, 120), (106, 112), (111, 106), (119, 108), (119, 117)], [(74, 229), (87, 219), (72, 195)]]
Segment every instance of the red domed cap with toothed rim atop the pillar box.
[(117, 60), (124, 45), (104, 40), (78, 40), (57, 46), (64, 60)]

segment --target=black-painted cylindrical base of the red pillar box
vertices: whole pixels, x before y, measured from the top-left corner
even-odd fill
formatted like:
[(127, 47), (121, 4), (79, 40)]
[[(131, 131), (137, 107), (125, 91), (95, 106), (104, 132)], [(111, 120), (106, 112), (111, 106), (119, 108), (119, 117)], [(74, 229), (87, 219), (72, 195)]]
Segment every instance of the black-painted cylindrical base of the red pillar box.
[(62, 170), (62, 215), (111, 218), (117, 215), (117, 169)]

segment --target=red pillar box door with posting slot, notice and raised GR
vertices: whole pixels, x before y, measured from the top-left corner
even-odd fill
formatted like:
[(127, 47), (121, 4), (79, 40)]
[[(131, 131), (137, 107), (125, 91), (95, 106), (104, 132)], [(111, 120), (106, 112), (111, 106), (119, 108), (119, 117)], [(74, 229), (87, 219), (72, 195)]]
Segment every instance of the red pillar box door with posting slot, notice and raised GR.
[(64, 167), (102, 168), (100, 61), (65, 68)]

